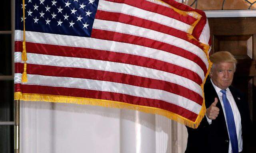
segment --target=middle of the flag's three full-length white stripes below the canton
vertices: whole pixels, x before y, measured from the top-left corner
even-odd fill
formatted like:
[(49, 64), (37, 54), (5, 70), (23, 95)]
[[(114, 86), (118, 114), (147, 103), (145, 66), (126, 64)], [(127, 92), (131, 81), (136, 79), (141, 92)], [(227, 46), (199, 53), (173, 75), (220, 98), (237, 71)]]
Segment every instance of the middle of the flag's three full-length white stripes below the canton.
[[(21, 59), (18, 60), (17, 58), (17, 57), (21, 57), (21, 52), (15, 52), (14, 54), (15, 54), (14, 59), (17, 60), (15, 62), (21, 63), (22, 62)], [(146, 67), (140, 67), (140, 66), (124, 64), (124, 63), (116, 63), (116, 62), (110, 62), (110, 61), (101, 61), (101, 60), (95, 60), (95, 59), (84, 59), (84, 58), (76, 58), (76, 57), (62, 57), (62, 56), (43, 55), (43, 54), (34, 54), (34, 53), (27, 53), (27, 57), (28, 57), (28, 60), (26, 62), (28, 64), (95, 69), (95, 70), (101, 70), (101, 71), (135, 75), (135, 76), (146, 77), (146, 78), (153, 78), (157, 80), (164, 80), (164, 81), (168, 81), (168, 82), (172, 82), (172, 83), (184, 86), (190, 90), (193, 90), (194, 92), (197, 92), (202, 96), (202, 89), (200, 85), (196, 84), (196, 82), (188, 78), (181, 77), (179, 75), (175, 75), (165, 71), (159, 71), (156, 69), (150, 69)]]

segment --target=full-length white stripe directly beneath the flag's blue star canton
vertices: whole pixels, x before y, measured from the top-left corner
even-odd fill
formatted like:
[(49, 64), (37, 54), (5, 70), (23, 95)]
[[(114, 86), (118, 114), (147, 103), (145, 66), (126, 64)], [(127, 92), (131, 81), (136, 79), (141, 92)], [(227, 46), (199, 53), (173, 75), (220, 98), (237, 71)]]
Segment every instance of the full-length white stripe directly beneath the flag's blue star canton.
[[(23, 40), (23, 32), (20, 30), (15, 30), (15, 41)], [(26, 41), (34, 43), (43, 43), (51, 45), (63, 45), (70, 47), (84, 47), (90, 49), (98, 49), (103, 51), (113, 51), (118, 53), (127, 53), (132, 55), (139, 55), (142, 57), (149, 57), (152, 59), (157, 59), (160, 61), (165, 61), (189, 69), (197, 73), (202, 81), (204, 80), (204, 75), (202, 72), (199, 74), (199, 70), (202, 70), (199, 65), (190, 61), (184, 57), (168, 53), (166, 51), (161, 51), (158, 49), (152, 49), (149, 47), (143, 47), (140, 45), (134, 45), (130, 43), (121, 43), (117, 41), (108, 41), (102, 39), (88, 38), (88, 37), (77, 37), (77, 36), (67, 36), (58, 35), (51, 33), (40, 33), (26, 31)], [(100, 45), (99, 45), (100, 44)], [(182, 61), (182, 62), (180, 62)], [(207, 61), (208, 62), (208, 61)]]

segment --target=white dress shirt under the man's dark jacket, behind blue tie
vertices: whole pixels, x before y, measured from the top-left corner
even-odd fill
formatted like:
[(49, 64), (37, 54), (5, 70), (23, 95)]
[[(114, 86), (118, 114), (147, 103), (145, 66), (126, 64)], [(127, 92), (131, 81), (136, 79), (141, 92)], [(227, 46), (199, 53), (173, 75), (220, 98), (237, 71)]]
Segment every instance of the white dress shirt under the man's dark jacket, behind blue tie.
[[(212, 82), (212, 79), (211, 79)], [(226, 113), (225, 113), (225, 108), (224, 108), (224, 104), (223, 104), (223, 100), (222, 100), (222, 92), (220, 92), (220, 88), (218, 86), (216, 86), (213, 82), (212, 85), (214, 87), (214, 89), (216, 90), (219, 99), (220, 99), (220, 104), (222, 106), (222, 110), (225, 116), (225, 120), (226, 120)], [(226, 88), (226, 96), (228, 98), (228, 101), (230, 103), (233, 115), (234, 115), (234, 120), (235, 120), (235, 125), (236, 125), (236, 135), (237, 135), (237, 139), (238, 139), (238, 152), (241, 152), (243, 150), (243, 140), (242, 140), (242, 126), (241, 126), (241, 116), (240, 116), (240, 112), (236, 106), (236, 102), (234, 100), (234, 97), (232, 96), (229, 88)], [(218, 117), (217, 117), (218, 118)], [(209, 124), (212, 124), (212, 120), (210, 120), (207, 116), (206, 119), (208, 121)], [(226, 120), (227, 122), (227, 120)], [(228, 129), (228, 125), (226, 124), (227, 129)], [(228, 133), (228, 137), (229, 137), (229, 133)], [(229, 137), (230, 138), (230, 137)], [(228, 148), (228, 153), (232, 153), (232, 147), (231, 147), (231, 142), (229, 141), (229, 148)]]

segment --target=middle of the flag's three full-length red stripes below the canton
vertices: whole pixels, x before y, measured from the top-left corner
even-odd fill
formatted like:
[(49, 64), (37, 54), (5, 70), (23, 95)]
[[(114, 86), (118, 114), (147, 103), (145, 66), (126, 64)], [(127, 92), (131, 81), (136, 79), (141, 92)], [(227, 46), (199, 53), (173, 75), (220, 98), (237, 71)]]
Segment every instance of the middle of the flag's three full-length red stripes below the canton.
[[(22, 63), (15, 63), (15, 66), (20, 65), (23, 67)], [(203, 98), (196, 92), (180, 86), (175, 83), (138, 77), (135, 75), (127, 75), (123, 73), (115, 73), (108, 71), (100, 71), (94, 69), (82, 69), (82, 68), (71, 68), (71, 67), (55, 67), (47, 65), (34, 65), (27, 64), (27, 73), (32, 75), (44, 75), (53, 77), (72, 77), (72, 78), (84, 78), (92, 80), (102, 80), (109, 82), (117, 82), (123, 84), (129, 84), (133, 86), (140, 86), (144, 88), (153, 88), (159, 90), (165, 90), (173, 94), (177, 94), (188, 98), (200, 105), (202, 105)], [(15, 73), (22, 73), (21, 71), (16, 71)], [(131, 81), (132, 80), (132, 81)]]

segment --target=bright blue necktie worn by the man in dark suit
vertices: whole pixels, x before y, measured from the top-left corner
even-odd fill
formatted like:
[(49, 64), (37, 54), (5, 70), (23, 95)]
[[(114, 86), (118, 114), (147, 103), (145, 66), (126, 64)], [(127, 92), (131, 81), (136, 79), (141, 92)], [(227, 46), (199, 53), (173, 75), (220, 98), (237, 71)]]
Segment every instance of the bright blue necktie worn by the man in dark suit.
[(222, 92), (222, 100), (226, 112), (226, 120), (228, 124), (228, 133), (230, 137), (230, 142), (232, 146), (232, 153), (238, 153), (238, 141), (237, 141), (237, 135), (236, 135), (236, 125), (234, 120), (234, 115), (231, 109), (231, 106), (229, 104), (229, 101), (226, 96), (226, 89), (220, 90)]

